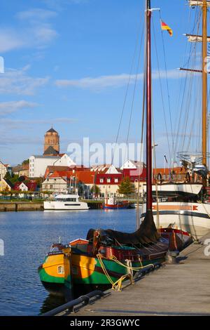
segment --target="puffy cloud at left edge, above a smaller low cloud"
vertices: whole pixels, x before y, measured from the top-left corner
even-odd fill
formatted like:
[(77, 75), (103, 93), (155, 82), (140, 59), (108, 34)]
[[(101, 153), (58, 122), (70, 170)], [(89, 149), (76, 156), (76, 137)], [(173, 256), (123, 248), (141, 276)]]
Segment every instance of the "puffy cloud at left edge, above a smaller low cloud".
[(34, 95), (36, 88), (48, 83), (49, 78), (34, 78), (27, 74), (29, 66), (20, 70), (8, 69), (0, 75), (0, 93)]

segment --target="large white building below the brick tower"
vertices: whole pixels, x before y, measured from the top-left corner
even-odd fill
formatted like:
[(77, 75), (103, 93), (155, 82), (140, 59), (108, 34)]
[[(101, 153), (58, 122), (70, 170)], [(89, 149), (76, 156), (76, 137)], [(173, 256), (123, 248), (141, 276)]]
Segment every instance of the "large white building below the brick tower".
[(73, 166), (76, 165), (68, 154), (58, 156), (31, 156), (29, 157), (29, 178), (44, 176), (48, 166)]

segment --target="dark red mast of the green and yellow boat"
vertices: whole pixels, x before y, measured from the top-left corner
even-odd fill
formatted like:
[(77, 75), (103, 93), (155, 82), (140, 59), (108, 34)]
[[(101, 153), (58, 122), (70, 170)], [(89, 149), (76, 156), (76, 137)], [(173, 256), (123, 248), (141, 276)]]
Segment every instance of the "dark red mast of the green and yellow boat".
[(146, 1), (146, 210), (152, 212), (151, 0)]

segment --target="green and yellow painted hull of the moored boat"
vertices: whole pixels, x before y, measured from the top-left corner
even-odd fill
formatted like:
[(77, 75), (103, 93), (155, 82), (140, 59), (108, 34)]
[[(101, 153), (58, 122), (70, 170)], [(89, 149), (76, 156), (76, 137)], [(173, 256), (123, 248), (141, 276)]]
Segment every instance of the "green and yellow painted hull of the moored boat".
[[(87, 250), (89, 246), (85, 245)], [(90, 246), (92, 248), (92, 246)], [(162, 244), (162, 251), (157, 252), (157, 247), (151, 248), (151, 253), (144, 256), (144, 260), (139, 260), (138, 251), (133, 248), (116, 249), (112, 247), (104, 247), (104, 253), (107, 257), (102, 259), (97, 256), (88, 256), (83, 253), (71, 253), (71, 282), (75, 286), (91, 286), (99, 288), (101, 286), (109, 286), (118, 279), (127, 275), (128, 264), (130, 261), (132, 268), (141, 268), (142, 266), (162, 263), (165, 260), (167, 244)], [(161, 250), (161, 249), (160, 249)], [(140, 251), (139, 251), (140, 253)], [(117, 256), (115, 260), (113, 256)], [(38, 275), (45, 289), (52, 294), (63, 294), (65, 290), (65, 270), (64, 270), (64, 253), (55, 252), (48, 253), (43, 263), (38, 268)]]

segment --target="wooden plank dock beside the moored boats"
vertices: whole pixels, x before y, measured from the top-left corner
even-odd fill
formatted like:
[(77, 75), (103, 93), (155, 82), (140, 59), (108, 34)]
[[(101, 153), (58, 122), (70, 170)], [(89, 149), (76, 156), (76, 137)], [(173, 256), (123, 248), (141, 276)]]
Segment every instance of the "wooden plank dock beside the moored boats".
[[(160, 269), (111, 294), (68, 314), (77, 316), (210, 315), (210, 256), (205, 239), (180, 253), (179, 263)], [(209, 246), (210, 252), (210, 246)]]

